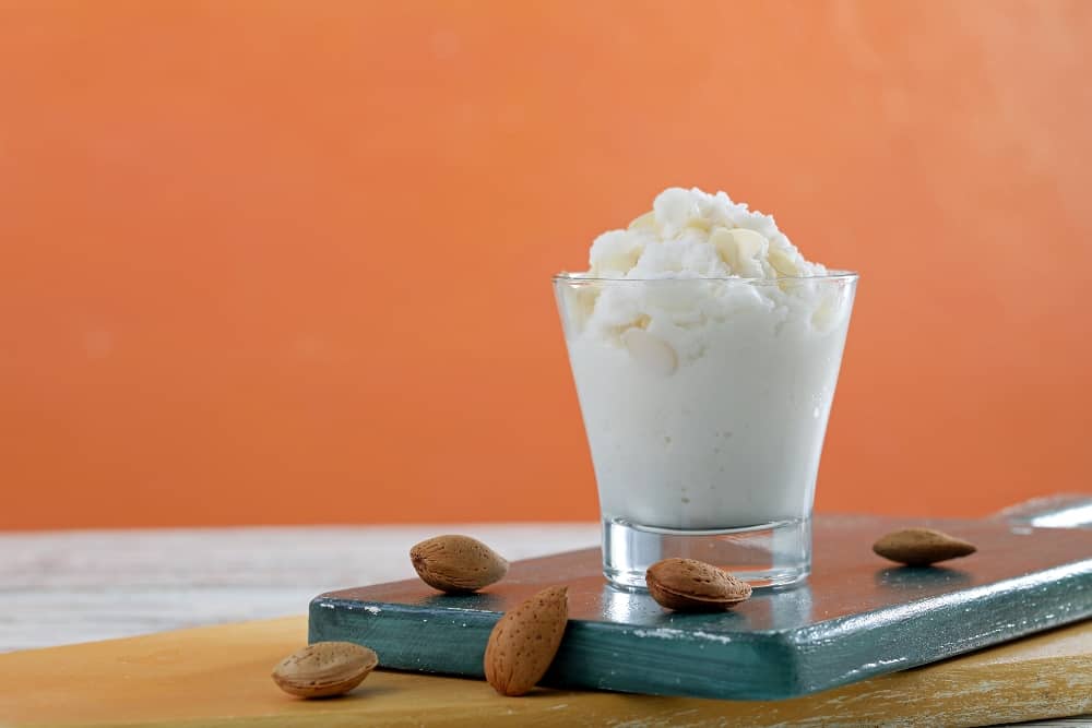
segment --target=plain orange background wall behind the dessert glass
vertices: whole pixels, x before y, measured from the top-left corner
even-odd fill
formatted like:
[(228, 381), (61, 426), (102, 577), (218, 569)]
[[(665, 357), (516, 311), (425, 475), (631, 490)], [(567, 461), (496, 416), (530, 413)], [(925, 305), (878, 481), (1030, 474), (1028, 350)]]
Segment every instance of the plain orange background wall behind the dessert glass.
[(863, 274), (826, 511), (1090, 491), (1092, 3), (5, 2), (0, 527), (596, 514), (549, 287)]

